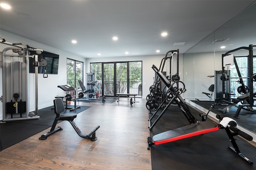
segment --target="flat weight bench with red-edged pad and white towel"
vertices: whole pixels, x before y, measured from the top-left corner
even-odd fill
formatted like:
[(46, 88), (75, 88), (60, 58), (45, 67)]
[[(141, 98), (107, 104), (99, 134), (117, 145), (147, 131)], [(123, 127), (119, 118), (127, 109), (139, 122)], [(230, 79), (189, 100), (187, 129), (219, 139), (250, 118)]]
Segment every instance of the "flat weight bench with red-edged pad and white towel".
[[(186, 139), (189, 137), (194, 137), (197, 135), (202, 135), (205, 133), (210, 133), (214, 131), (218, 131), (218, 129), (225, 129), (226, 133), (233, 145), (229, 146), (229, 149), (232, 150), (232, 152), (236, 153), (240, 158), (248, 162), (250, 165), (253, 164), (252, 161), (250, 161), (248, 158), (246, 158), (239, 150), (238, 145), (236, 144), (236, 140), (234, 139), (234, 136), (240, 135), (244, 139), (248, 141), (252, 141), (252, 137), (239, 129), (237, 129), (237, 123), (233, 119), (229, 117), (222, 117), (222, 115), (216, 115), (218, 119), (221, 119), (220, 124), (217, 124), (213, 121), (202, 121), (199, 123), (194, 123), (191, 125), (187, 125), (184, 127), (180, 127), (177, 129), (173, 129), (170, 131), (166, 131), (163, 133), (159, 133), (157, 135), (154, 135), (152, 138), (148, 137), (148, 150), (150, 150), (150, 146), (152, 145), (161, 145), (164, 143), (169, 143), (173, 141), (178, 141), (181, 139)], [(230, 125), (230, 127), (228, 127)], [(231, 132), (230, 129), (233, 131)]]

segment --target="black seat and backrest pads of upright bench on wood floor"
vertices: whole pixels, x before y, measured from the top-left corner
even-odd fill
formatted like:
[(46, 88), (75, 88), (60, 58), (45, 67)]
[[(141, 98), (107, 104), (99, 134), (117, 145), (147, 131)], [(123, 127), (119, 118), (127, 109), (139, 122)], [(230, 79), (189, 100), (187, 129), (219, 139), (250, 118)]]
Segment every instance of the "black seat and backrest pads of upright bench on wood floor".
[(56, 113), (56, 119), (73, 121), (76, 118), (76, 116), (77, 116), (76, 113), (64, 113), (64, 114), (60, 115), (61, 113), (63, 113), (65, 111), (65, 106), (64, 106), (61, 98), (56, 98), (53, 101), (53, 104), (54, 104), (54, 113)]

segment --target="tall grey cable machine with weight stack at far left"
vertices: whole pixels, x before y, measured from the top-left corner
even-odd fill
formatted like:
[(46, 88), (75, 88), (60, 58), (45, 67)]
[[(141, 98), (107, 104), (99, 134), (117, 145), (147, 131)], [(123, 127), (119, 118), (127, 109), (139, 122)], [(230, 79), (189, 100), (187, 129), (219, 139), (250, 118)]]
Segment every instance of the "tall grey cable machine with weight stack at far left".
[[(1, 37), (0, 43), (12, 46), (6, 47), (1, 53), (0, 67), (2, 67), (2, 100), (3, 119), (14, 121), (21, 119), (39, 119), (38, 116), (38, 67), (46, 66), (47, 61), (38, 61), (38, 55), (43, 50), (30, 47), (28, 44), (9, 43)], [(34, 54), (34, 55), (31, 55)], [(30, 112), (30, 76), (29, 57), (34, 58), (35, 67), (35, 112)], [(44, 78), (48, 74), (44, 73)]]

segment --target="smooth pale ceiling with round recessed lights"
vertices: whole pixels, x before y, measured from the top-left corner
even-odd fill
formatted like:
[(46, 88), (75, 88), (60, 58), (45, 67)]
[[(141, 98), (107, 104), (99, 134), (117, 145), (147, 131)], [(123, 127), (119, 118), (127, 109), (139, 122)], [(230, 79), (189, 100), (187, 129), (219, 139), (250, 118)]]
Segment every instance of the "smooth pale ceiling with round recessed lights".
[[(255, 0), (0, 2), (12, 7), (0, 9), (0, 29), (75, 55), (94, 58), (156, 55), (156, 49), (161, 50), (160, 54), (176, 49), (184, 53)], [(161, 37), (162, 31), (167, 31), (168, 36)], [(118, 36), (118, 41), (113, 41), (113, 36)], [(5, 39), (8, 41), (8, 37)], [(72, 44), (72, 39), (76, 39), (77, 44)], [(186, 43), (174, 46), (177, 42)], [(126, 51), (128, 55), (124, 54)]]

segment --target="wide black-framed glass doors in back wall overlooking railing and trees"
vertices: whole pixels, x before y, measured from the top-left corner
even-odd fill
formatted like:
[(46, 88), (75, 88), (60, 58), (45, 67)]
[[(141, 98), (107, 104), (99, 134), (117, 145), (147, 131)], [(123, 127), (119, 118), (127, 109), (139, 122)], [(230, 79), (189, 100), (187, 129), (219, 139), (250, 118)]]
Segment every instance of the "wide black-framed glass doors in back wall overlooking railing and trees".
[[(102, 71), (100, 70), (100, 65)], [(102, 94), (115, 96), (116, 93), (142, 96), (142, 61), (90, 63), (90, 72), (102, 73)], [(100, 76), (99, 78), (101, 79)]]

